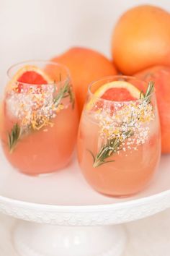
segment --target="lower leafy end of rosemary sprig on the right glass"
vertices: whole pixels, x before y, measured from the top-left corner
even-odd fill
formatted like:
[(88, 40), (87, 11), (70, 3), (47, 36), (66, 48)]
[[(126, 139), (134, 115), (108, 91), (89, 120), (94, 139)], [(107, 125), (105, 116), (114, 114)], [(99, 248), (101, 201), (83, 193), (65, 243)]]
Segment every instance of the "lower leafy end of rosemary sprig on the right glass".
[[(121, 135), (121, 137), (125, 137), (125, 140), (131, 136), (133, 136), (133, 131), (131, 129), (128, 130), (128, 132), (122, 132)], [(115, 137), (110, 140), (107, 140), (107, 142), (102, 146), (101, 150), (99, 150), (99, 153), (97, 153), (96, 156), (94, 156), (94, 154), (90, 150), (88, 150), (93, 157), (93, 167), (96, 168), (102, 166), (102, 164), (104, 163), (115, 162), (114, 160), (105, 161), (105, 159), (109, 158), (114, 153), (117, 153), (118, 151), (122, 150), (121, 145), (122, 141), (120, 140), (120, 138)]]

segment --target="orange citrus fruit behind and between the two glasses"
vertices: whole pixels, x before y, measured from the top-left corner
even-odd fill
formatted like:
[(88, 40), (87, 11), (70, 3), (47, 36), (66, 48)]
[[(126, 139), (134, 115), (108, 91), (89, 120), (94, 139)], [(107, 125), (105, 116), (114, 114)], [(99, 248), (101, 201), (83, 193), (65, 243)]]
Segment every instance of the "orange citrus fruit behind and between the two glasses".
[[(117, 74), (115, 65), (105, 56), (89, 48), (75, 47), (66, 51), (60, 56), (52, 59), (66, 65), (71, 72), (71, 80), (76, 93), (79, 114), (81, 114), (86, 100), (86, 93), (89, 84), (94, 80), (108, 75)], [(51, 67), (53, 68), (53, 67)], [(54, 74), (55, 72), (49, 72)], [(57, 79), (57, 77), (52, 77)]]

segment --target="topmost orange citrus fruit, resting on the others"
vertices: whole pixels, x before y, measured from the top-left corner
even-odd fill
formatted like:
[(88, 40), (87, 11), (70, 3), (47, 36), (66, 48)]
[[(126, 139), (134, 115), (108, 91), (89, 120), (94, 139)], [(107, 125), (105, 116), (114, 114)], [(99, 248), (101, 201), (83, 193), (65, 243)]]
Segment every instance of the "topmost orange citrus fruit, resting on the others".
[(123, 74), (170, 65), (170, 14), (141, 5), (122, 14), (112, 34), (112, 57)]

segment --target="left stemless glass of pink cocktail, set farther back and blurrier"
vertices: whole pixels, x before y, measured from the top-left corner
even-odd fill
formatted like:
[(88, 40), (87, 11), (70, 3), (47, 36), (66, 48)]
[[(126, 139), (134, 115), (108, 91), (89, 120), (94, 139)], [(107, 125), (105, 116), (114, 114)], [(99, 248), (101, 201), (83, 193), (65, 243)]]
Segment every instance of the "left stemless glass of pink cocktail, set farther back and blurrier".
[[(27, 61), (12, 66), (7, 74), (1, 111), (6, 158), (24, 174), (63, 168), (71, 160), (78, 128), (68, 69), (50, 61)], [(32, 82), (22, 82), (30, 75)]]

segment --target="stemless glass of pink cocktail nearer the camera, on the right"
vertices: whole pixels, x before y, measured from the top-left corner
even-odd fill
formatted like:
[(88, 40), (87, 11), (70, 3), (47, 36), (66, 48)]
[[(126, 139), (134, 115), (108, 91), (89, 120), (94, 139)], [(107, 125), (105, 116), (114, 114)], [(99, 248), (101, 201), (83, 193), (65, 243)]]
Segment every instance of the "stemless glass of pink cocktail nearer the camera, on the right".
[[(132, 101), (109, 101), (95, 93), (102, 85), (124, 81), (145, 92), (134, 77), (106, 77), (89, 86), (81, 115), (78, 158), (91, 187), (104, 195), (126, 197), (151, 181), (161, 153), (161, 135), (153, 92)], [(138, 93), (140, 93), (138, 91)], [(121, 95), (118, 96), (121, 98)]]

